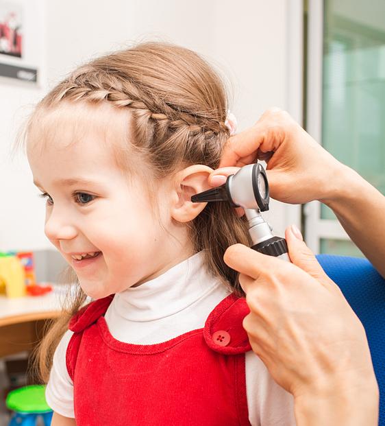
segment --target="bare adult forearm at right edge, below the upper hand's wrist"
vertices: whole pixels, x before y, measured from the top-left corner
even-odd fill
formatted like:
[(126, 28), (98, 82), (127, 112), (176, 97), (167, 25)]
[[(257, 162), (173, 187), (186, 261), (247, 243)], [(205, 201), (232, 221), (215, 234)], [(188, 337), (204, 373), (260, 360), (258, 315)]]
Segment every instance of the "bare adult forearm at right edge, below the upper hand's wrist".
[(332, 178), (334, 188), (320, 201), (334, 211), (354, 244), (385, 277), (385, 197), (347, 166)]

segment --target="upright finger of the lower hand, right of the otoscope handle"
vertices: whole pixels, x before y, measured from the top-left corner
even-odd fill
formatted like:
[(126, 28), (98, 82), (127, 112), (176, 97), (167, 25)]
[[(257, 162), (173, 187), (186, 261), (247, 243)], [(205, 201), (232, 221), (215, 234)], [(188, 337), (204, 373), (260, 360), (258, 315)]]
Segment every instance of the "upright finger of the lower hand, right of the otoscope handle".
[(299, 266), (301, 270), (308, 272), (308, 274), (323, 285), (329, 283), (329, 277), (321, 268), (312, 250), (306, 246), (297, 226), (292, 225), (286, 228), (285, 238), (288, 244), (288, 255), (292, 263)]

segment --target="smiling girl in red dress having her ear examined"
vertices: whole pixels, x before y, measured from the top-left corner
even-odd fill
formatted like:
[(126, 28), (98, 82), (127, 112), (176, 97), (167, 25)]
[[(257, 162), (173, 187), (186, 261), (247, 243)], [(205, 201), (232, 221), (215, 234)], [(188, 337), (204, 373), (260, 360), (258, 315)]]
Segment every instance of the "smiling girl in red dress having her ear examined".
[(45, 234), (79, 283), (40, 348), (53, 426), (295, 425), (223, 261), (251, 244), (245, 217), (190, 201), (210, 188), (226, 112), (200, 56), (142, 43), (79, 67), (30, 117)]

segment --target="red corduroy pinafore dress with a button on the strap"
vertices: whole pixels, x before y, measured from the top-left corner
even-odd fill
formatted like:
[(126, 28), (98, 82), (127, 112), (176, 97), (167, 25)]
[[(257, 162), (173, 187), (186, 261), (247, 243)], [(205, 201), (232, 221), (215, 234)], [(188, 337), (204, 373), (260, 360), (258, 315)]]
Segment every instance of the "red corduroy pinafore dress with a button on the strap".
[(159, 344), (119, 342), (103, 314), (113, 295), (82, 308), (66, 366), (77, 426), (243, 426), (247, 410), (245, 298), (230, 294), (205, 327)]

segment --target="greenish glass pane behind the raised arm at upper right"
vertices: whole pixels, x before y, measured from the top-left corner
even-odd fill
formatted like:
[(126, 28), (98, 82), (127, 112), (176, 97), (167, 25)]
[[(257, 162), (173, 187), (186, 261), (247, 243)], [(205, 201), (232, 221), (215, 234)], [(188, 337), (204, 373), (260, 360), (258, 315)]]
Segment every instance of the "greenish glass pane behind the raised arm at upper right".
[(385, 193), (385, 1), (324, 4), (322, 145)]

